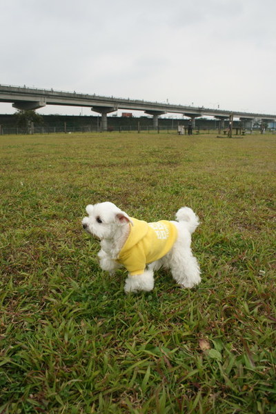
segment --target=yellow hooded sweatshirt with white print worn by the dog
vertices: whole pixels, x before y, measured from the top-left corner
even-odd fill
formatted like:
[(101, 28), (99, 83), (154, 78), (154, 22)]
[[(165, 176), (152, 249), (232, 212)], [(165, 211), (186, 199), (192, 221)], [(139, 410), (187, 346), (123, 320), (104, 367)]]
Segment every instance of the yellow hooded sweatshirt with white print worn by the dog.
[(130, 234), (119, 252), (117, 261), (124, 265), (130, 275), (144, 273), (146, 264), (161, 259), (177, 239), (177, 228), (170, 221), (146, 221), (133, 219)]

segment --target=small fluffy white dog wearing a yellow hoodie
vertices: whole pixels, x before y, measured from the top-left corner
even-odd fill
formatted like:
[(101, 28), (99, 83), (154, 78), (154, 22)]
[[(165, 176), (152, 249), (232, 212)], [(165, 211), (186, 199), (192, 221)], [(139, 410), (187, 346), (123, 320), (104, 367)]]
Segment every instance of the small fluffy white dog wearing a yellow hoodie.
[(122, 266), (128, 270), (126, 293), (152, 290), (153, 272), (161, 266), (170, 268), (172, 277), (182, 287), (199, 284), (200, 270), (190, 248), (199, 219), (190, 208), (180, 208), (177, 221), (155, 223), (128, 217), (108, 201), (89, 204), (86, 211), (88, 217), (83, 218), (82, 225), (101, 241), (101, 268), (110, 273)]

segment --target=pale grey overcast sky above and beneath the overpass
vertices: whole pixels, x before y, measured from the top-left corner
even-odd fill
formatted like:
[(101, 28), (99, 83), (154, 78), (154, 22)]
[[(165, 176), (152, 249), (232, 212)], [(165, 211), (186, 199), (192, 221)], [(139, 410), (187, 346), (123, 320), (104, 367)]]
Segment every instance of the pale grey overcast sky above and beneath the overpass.
[[(276, 113), (275, 0), (0, 0), (0, 83)], [(91, 115), (47, 106), (39, 113)], [(0, 103), (0, 113), (13, 113)]]

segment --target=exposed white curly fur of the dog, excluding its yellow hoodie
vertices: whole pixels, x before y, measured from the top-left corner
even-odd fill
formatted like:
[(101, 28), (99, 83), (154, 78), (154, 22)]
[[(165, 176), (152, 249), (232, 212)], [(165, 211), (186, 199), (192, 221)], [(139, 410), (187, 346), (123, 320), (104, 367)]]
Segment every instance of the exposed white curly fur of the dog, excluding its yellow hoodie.
[[(99, 264), (103, 270), (114, 273), (121, 265), (116, 261), (129, 234), (130, 217), (110, 202), (86, 207), (88, 217), (82, 220), (83, 228), (101, 240)], [(177, 211), (177, 221), (171, 221), (177, 227), (177, 240), (171, 250), (161, 259), (148, 265), (142, 275), (128, 275), (125, 292), (150, 291), (154, 287), (155, 270), (164, 267), (170, 269), (175, 282), (184, 288), (193, 288), (201, 281), (199, 265), (190, 248), (191, 235), (199, 225), (199, 219), (189, 207)]]

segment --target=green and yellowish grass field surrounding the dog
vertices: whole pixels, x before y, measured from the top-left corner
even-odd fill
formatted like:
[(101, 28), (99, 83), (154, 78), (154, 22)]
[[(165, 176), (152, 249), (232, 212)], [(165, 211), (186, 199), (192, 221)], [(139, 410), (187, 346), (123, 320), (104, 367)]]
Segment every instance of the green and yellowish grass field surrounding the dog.
[[(276, 413), (275, 135), (0, 137), (0, 413)], [(97, 264), (86, 204), (190, 206), (202, 282)]]

